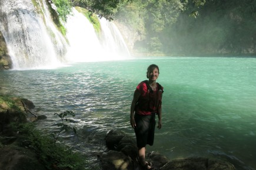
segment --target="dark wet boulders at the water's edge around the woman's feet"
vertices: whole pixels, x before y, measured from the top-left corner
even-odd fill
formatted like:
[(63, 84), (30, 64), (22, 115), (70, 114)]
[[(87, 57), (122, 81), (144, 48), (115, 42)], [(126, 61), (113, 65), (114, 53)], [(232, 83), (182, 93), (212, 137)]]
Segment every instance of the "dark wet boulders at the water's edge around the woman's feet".
[[(122, 131), (111, 130), (105, 137), (108, 150), (100, 157), (102, 169), (140, 170), (135, 139)], [(234, 170), (230, 162), (201, 157), (168, 159), (159, 152), (149, 152), (146, 159), (161, 170)]]

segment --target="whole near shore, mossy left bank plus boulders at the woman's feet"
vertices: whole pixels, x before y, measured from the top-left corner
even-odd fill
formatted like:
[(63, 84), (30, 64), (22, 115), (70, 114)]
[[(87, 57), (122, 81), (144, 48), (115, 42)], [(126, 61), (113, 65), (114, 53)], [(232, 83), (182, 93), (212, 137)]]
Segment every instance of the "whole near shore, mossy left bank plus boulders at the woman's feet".
[[(32, 123), (43, 116), (31, 112), (34, 104), (24, 98), (0, 96), (0, 169), (84, 169), (85, 153), (73, 152), (57, 144)], [(48, 134), (49, 135), (49, 134)], [(125, 132), (111, 130), (105, 137), (107, 151), (98, 155), (102, 169), (142, 169), (137, 158), (134, 138)], [(169, 160), (158, 152), (149, 152), (147, 160), (155, 168), (234, 170), (227, 161), (211, 158), (179, 158)]]

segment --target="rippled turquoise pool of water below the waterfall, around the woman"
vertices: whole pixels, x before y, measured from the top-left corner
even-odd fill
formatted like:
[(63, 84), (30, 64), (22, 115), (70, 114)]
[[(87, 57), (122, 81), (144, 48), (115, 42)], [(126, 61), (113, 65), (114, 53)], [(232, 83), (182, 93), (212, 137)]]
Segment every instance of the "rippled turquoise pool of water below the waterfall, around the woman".
[(164, 86), (163, 127), (147, 151), (169, 159), (211, 157), (237, 169), (256, 169), (256, 58), (158, 57), (113, 62), (77, 63), (54, 70), (0, 72), (1, 93), (33, 101), (48, 118), (38, 127), (52, 130), (54, 113), (75, 112), (78, 135), (62, 138), (97, 166), (104, 136), (113, 129), (134, 137), (129, 109), (137, 84), (147, 79), (149, 64), (158, 64)]

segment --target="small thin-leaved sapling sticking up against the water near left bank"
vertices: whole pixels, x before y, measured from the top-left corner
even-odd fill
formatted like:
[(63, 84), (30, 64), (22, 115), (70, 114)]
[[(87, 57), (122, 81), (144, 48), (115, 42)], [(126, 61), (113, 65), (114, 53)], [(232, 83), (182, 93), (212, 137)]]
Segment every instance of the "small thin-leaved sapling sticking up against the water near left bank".
[(73, 111), (64, 111), (60, 114), (55, 113), (54, 115), (58, 115), (58, 117), (61, 118), (61, 123), (56, 124), (59, 127), (59, 130), (51, 133), (52, 137), (54, 137), (54, 145), (56, 145), (56, 141), (58, 140), (58, 137), (62, 131), (68, 131), (69, 129), (72, 129), (74, 133), (77, 134), (77, 130), (75, 130), (75, 127), (70, 124), (75, 123), (75, 121), (73, 119), (67, 118), (69, 115), (75, 117), (75, 113)]

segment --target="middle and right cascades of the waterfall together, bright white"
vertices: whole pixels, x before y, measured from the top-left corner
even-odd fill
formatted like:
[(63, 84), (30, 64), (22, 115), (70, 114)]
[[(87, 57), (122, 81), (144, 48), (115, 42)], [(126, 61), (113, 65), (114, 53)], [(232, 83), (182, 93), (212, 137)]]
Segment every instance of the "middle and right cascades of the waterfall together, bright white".
[(129, 56), (129, 51), (117, 27), (105, 18), (99, 19), (101, 32), (99, 38), (88, 19), (72, 9), (73, 15), (66, 24), (70, 43), (67, 58), (73, 62), (95, 62), (119, 60)]

